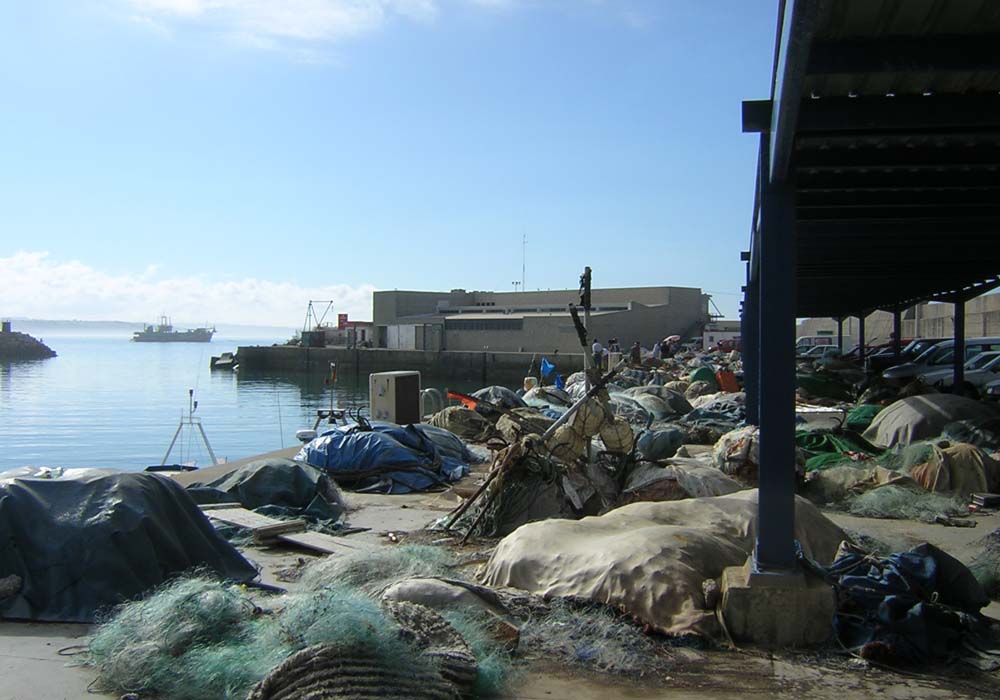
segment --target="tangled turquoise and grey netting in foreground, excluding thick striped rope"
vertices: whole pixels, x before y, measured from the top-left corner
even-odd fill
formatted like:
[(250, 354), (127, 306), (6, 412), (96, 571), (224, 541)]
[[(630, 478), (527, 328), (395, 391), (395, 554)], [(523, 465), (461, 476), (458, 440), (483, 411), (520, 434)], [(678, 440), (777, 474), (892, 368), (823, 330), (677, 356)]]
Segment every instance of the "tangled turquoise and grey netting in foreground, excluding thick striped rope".
[[(458, 578), (455, 567), (447, 550), (401, 546), (321, 560), (307, 569), (301, 590), (266, 598), (207, 575), (179, 579), (111, 611), (85, 663), (102, 690), (178, 700), (272, 697), (260, 693), (276, 687), (273, 673), (294, 666), (293, 656), (325, 658), (331, 649), (354, 650), (342, 652), (341, 665), (380, 669), (386, 682), (408, 674), (448, 678), (447, 656), (428, 653), (378, 598), (387, 585), (413, 576)], [(528, 594), (505, 605), (524, 659), (626, 675), (664, 668), (664, 645), (604, 606)], [(496, 633), (498, 618), (471, 607), (441, 617), (475, 657), (472, 695), (508, 688), (515, 658), (509, 640)]]

